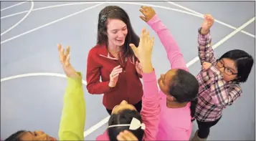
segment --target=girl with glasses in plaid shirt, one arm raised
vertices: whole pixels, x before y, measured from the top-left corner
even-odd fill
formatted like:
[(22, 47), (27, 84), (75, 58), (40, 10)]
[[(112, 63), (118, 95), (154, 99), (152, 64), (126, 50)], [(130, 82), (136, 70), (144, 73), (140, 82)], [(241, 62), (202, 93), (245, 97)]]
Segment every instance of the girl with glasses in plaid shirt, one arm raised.
[(240, 49), (231, 50), (215, 59), (209, 31), (214, 18), (209, 14), (204, 18), (198, 35), (202, 70), (196, 76), (199, 94), (195, 118), (199, 130), (192, 140), (207, 140), (210, 127), (219, 122), (222, 110), (242, 94), (240, 83), (247, 81), (254, 63), (252, 56)]

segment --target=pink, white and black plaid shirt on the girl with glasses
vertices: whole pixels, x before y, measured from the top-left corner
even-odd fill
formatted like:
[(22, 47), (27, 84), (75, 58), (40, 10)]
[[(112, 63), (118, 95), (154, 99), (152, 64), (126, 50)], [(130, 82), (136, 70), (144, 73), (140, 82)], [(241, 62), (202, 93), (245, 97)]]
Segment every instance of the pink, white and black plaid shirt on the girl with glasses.
[(196, 76), (199, 82), (198, 104), (196, 106), (196, 120), (212, 122), (222, 117), (222, 110), (240, 97), (242, 89), (238, 82), (225, 82), (222, 74), (215, 67), (216, 59), (211, 46), (210, 33), (198, 35), (199, 59), (203, 62), (212, 63), (212, 66), (203, 69)]

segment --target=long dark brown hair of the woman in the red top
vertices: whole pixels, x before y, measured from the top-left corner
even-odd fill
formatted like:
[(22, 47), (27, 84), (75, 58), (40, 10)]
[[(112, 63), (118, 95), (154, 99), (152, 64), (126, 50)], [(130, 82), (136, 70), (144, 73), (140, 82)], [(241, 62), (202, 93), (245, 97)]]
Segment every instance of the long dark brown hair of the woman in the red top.
[(128, 29), (128, 34), (125, 37), (125, 47), (123, 48), (124, 57), (133, 56), (133, 50), (129, 46), (129, 44), (134, 44), (138, 47), (139, 37), (136, 35), (135, 31), (133, 31), (133, 27), (131, 26), (131, 21), (128, 14), (121, 9), (119, 6), (106, 6), (104, 9), (100, 11), (98, 17), (98, 35), (97, 35), (97, 44), (106, 44), (108, 45), (108, 36), (107, 32), (107, 24), (108, 19), (120, 19), (123, 21)]

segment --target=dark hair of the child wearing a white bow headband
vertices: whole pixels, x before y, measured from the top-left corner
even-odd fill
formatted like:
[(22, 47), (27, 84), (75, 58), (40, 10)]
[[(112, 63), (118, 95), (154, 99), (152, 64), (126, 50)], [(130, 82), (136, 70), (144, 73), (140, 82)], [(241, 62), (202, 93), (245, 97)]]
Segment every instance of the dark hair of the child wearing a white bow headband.
[[(131, 120), (133, 120), (133, 117), (143, 123), (140, 113), (138, 113), (136, 110), (123, 110), (118, 114), (113, 114), (110, 116), (110, 119), (108, 120), (108, 126), (131, 124)], [(120, 132), (124, 130), (132, 132), (133, 135), (138, 138), (138, 140), (143, 140), (144, 130), (142, 130), (141, 127), (137, 130), (129, 130), (129, 126), (120, 126), (108, 128), (108, 137), (110, 141), (117, 141), (116, 137)]]

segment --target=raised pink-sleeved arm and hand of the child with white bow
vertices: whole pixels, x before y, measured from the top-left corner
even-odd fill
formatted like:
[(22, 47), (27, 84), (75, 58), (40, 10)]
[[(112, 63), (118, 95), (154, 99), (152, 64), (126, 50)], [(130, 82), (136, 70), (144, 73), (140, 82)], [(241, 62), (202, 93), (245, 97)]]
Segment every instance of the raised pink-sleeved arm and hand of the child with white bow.
[(141, 117), (143, 123), (146, 125), (145, 139), (156, 140), (158, 132), (160, 97), (158, 94), (158, 87), (156, 81), (156, 73), (151, 62), (151, 54), (153, 48), (153, 39), (149, 37), (148, 31), (143, 29), (141, 32), (140, 43), (138, 48), (134, 44), (130, 45), (134, 54), (141, 62), (142, 79), (143, 79), (143, 97)]

